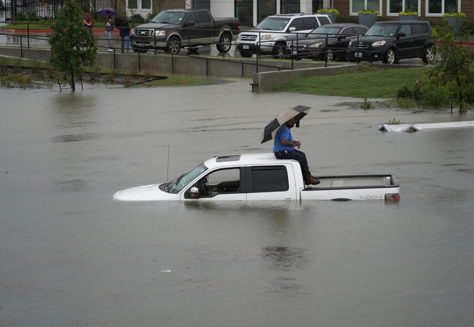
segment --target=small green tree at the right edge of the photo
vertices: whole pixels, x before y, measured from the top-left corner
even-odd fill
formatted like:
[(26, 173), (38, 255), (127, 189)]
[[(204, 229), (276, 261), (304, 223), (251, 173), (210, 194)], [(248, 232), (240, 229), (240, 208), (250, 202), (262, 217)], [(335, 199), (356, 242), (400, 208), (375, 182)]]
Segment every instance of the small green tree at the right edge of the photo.
[(453, 26), (443, 19), (431, 38), (437, 42), (435, 54), (439, 59), (427, 74), (435, 77), (432, 80), (436, 84), (449, 85), (453, 96), (459, 97), (459, 111), (466, 111), (466, 97), (474, 88), (474, 52), (462, 44), (468, 42), (468, 35), (462, 30), (453, 32)]

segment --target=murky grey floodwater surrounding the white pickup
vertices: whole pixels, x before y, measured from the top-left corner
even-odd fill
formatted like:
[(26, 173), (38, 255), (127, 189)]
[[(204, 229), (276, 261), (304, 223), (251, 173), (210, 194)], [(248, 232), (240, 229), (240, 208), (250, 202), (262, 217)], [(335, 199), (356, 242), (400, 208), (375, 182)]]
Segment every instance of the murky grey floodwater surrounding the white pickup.
[[(474, 120), (255, 94), (249, 79), (156, 89), (0, 89), (1, 326), (472, 326)], [(294, 135), (314, 175), (393, 173), (398, 203), (118, 202), (214, 155)], [(456, 111), (456, 110), (455, 110)]]

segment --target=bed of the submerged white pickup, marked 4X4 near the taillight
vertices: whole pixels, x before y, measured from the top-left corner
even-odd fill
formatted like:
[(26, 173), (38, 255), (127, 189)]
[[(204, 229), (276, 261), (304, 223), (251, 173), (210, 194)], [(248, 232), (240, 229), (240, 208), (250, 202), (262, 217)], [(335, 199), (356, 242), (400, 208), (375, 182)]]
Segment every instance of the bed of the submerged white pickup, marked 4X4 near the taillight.
[(316, 186), (301, 191), (302, 200), (399, 200), (394, 175), (322, 176)]

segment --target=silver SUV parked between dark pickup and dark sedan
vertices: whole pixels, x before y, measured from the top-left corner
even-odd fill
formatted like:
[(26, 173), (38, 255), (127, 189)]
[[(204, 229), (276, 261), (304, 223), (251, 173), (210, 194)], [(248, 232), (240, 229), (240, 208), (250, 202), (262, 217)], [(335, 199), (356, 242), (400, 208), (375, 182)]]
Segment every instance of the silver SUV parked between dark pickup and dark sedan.
[(258, 51), (283, 58), (288, 41), (303, 37), (325, 24), (331, 24), (328, 15), (298, 13), (268, 16), (252, 30), (240, 32), (236, 41), (237, 50), (242, 57), (250, 57)]

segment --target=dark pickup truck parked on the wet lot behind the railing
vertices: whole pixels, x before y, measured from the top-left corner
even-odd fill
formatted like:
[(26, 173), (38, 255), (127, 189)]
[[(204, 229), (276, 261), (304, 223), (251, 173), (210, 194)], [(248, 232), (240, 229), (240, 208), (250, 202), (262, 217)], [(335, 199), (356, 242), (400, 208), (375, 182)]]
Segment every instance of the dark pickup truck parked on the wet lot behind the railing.
[(219, 52), (228, 52), (239, 29), (238, 18), (213, 18), (207, 9), (169, 9), (132, 28), (130, 41), (135, 52), (178, 53), (182, 47), (193, 50), (212, 44)]

